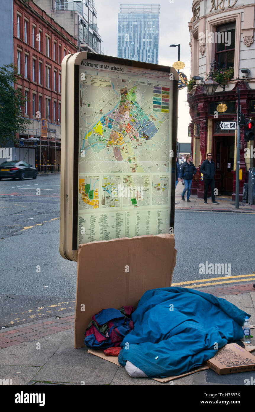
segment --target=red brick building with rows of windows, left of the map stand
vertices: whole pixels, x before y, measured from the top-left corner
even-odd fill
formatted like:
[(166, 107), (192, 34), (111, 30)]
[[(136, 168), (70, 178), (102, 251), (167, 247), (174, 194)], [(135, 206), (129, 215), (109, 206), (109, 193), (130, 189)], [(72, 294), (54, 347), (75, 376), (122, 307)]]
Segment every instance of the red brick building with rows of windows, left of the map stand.
[[(60, 164), (61, 62), (66, 54), (77, 52), (77, 40), (34, 2), (14, 0), (13, 42), (20, 73), (17, 87), (30, 100), (21, 107), (31, 124), (17, 136), (22, 139), (19, 146), (33, 147), (35, 164), (44, 171)], [(41, 136), (41, 118), (48, 121), (47, 137)], [(26, 140), (36, 136), (37, 145), (36, 140)]]

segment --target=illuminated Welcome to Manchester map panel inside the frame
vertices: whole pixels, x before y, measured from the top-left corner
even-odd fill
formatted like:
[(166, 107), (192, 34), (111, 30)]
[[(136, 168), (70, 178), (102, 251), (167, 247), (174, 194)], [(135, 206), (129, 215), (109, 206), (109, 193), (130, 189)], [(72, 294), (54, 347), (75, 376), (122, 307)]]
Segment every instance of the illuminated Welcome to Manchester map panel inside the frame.
[(82, 60), (78, 243), (169, 233), (173, 80)]

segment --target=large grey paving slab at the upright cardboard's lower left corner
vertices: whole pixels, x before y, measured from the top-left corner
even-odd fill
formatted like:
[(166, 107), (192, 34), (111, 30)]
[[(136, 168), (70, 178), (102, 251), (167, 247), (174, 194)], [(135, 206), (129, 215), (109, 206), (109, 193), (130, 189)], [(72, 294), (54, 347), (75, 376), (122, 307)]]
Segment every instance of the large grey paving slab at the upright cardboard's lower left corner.
[(68, 336), (33, 380), (111, 384), (118, 366), (90, 355), (87, 351), (85, 347), (74, 349), (73, 336)]

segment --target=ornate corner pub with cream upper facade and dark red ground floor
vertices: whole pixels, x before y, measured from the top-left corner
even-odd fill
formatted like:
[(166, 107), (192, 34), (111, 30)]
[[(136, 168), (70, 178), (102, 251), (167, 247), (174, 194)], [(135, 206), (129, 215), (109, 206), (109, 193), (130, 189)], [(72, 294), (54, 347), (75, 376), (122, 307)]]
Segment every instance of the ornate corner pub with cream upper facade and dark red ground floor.
[[(212, 152), (218, 195), (231, 195), (232, 200), (236, 184), (236, 130), (222, 129), (220, 124), (237, 121), (236, 87), (240, 89), (241, 111), (246, 118), (255, 119), (254, 11), (254, 0), (195, 0), (189, 23), (191, 78), (187, 100), (192, 157), (199, 170), (206, 153)], [(203, 87), (210, 73), (219, 84), (213, 95), (206, 94)], [(255, 167), (253, 147), (254, 140), (244, 140), (241, 126), (240, 201), (249, 168)], [(203, 192), (202, 176), (197, 173), (191, 194), (202, 198)]]

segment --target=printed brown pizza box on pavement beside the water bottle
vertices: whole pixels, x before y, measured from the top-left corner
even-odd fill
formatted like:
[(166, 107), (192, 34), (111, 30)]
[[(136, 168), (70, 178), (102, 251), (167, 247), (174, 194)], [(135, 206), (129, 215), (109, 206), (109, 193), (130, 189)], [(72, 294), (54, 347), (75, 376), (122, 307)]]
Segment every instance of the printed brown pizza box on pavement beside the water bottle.
[(206, 365), (218, 375), (255, 371), (255, 356), (247, 349), (248, 346), (244, 349), (236, 343), (229, 343), (219, 349), (213, 358), (206, 361)]

